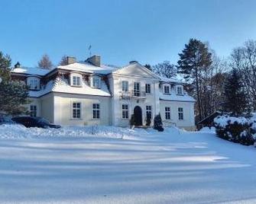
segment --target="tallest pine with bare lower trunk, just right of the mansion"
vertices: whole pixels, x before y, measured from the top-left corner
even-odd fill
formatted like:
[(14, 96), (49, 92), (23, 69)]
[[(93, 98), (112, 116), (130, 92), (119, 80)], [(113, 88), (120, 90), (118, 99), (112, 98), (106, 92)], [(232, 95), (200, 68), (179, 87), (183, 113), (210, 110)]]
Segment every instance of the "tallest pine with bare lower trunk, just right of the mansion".
[(178, 72), (183, 75), (186, 81), (192, 84), (191, 92), (195, 92), (199, 120), (203, 117), (202, 91), (203, 91), (203, 74), (207, 73), (212, 64), (212, 54), (206, 44), (196, 39), (190, 39), (185, 45), (182, 53), (179, 54)]

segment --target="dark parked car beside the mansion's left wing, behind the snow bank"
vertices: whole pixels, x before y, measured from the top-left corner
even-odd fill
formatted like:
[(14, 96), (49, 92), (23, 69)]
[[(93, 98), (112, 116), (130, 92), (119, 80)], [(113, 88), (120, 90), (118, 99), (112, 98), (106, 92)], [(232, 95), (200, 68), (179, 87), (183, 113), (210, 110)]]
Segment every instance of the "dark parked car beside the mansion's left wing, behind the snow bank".
[(60, 126), (50, 123), (43, 117), (31, 116), (17, 116), (12, 118), (16, 123), (20, 123), (26, 127), (39, 127), (39, 128), (60, 128)]

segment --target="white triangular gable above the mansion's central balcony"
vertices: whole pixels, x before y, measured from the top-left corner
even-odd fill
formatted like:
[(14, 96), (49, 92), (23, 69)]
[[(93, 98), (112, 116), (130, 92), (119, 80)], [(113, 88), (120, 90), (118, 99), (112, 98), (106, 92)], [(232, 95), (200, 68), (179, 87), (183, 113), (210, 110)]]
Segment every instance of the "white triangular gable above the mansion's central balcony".
[(147, 70), (147, 68), (145, 68), (143, 65), (140, 65), (139, 63), (125, 66), (124, 68), (113, 72), (113, 74), (159, 79), (157, 75), (154, 75), (153, 72)]

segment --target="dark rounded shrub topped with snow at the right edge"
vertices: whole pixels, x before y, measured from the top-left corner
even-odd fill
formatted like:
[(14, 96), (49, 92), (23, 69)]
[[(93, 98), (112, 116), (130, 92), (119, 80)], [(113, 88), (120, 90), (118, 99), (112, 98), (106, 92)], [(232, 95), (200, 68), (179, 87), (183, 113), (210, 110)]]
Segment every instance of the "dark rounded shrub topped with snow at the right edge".
[(242, 145), (254, 145), (251, 124), (245, 117), (218, 116), (214, 123), (216, 133), (220, 138)]

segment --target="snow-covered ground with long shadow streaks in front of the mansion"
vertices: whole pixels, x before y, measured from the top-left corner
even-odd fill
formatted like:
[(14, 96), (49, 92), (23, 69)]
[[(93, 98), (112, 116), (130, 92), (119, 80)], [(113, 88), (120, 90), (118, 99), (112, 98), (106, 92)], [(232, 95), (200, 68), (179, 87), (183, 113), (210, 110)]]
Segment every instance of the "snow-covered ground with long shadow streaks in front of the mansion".
[(0, 202), (256, 203), (254, 147), (207, 129), (91, 133), (0, 126)]

